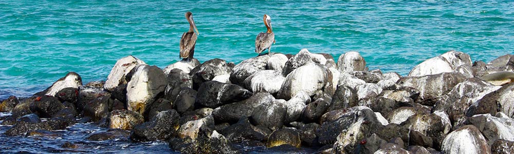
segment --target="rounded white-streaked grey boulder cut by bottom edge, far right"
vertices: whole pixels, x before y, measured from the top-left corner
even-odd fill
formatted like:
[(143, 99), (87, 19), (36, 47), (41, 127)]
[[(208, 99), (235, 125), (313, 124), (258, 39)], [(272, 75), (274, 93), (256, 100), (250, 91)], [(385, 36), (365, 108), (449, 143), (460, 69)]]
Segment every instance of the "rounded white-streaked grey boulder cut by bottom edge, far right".
[(484, 136), (473, 125), (466, 125), (450, 132), (443, 140), (441, 151), (448, 154), (491, 153)]

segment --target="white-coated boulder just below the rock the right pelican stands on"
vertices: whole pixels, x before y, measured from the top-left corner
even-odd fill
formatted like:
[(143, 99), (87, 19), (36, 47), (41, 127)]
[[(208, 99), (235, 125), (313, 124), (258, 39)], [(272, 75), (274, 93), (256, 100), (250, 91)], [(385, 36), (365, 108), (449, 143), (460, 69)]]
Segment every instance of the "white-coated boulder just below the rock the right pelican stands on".
[(252, 92), (277, 93), (285, 79), (279, 71), (261, 70), (248, 76), (244, 85)]

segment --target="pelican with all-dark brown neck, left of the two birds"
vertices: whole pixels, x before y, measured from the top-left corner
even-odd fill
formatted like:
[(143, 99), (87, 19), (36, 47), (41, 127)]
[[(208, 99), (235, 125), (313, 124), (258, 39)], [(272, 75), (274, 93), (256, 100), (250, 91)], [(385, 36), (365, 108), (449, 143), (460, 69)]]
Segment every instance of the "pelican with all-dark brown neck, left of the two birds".
[[(196, 44), (196, 38), (200, 34), (198, 29), (196, 29), (196, 24), (194, 24), (193, 13), (186, 13), (186, 20), (189, 22), (189, 30), (182, 34), (182, 38), (180, 38), (180, 58), (182, 59), (193, 59), (194, 54), (194, 45)], [(196, 30), (196, 33), (193, 31)]]

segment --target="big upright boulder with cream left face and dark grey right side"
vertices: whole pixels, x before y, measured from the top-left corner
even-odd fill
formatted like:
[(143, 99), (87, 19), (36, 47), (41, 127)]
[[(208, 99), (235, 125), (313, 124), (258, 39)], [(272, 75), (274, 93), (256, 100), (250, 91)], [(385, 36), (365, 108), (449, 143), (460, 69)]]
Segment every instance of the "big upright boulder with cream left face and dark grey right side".
[(166, 75), (157, 66), (139, 65), (127, 83), (128, 110), (144, 114), (155, 97), (168, 85)]

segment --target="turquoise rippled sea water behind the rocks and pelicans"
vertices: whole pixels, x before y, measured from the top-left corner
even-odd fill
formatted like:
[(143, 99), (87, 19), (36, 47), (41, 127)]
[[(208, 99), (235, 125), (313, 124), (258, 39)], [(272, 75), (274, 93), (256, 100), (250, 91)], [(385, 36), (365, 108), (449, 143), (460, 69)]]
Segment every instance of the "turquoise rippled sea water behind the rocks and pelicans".
[(0, 1), (0, 99), (28, 96), (68, 71), (105, 80), (120, 57), (164, 68), (178, 61), (193, 12), (195, 57), (238, 63), (271, 16), (274, 52), (337, 57), (359, 51), (370, 69), (407, 74), (448, 50), (488, 62), (514, 53), (513, 1)]

